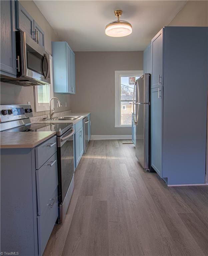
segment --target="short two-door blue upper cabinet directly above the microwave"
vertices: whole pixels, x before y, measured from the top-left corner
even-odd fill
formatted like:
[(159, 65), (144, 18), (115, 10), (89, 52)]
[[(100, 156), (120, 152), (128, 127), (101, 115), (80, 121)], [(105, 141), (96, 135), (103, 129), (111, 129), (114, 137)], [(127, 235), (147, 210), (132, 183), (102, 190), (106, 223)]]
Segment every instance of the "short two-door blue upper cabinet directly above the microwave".
[(18, 1), (16, 1), (16, 27), (30, 35), (40, 46), (45, 47), (44, 31)]

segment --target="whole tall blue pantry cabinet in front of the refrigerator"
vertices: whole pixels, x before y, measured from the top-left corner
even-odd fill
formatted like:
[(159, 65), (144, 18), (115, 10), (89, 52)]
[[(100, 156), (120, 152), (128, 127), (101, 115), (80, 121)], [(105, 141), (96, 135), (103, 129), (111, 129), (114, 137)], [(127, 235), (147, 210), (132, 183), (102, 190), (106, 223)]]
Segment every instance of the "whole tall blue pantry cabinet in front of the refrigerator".
[(151, 166), (168, 185), (205, 183), (207, 27), (152, 39)]

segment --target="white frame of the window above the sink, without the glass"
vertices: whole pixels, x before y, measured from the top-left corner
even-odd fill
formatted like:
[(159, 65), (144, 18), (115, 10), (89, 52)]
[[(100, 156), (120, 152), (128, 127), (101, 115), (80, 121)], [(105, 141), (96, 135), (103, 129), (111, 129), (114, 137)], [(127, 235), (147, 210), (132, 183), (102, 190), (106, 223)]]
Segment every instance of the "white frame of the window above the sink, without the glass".
[[(53, 57), (49, 54), (49, 62), (50, 62), (50, 80), (51, 83), (49, 84), (50, 90), (50, 98), (53, 97)], [(34, 86), (34, 101), (35, 101), (35, 111), (48, 111), (50, 110), (50, 104), (48, 103), (38, 103), (38, 85)], [(51, 107), (53, 109), (54, 103), (52, 102)]]

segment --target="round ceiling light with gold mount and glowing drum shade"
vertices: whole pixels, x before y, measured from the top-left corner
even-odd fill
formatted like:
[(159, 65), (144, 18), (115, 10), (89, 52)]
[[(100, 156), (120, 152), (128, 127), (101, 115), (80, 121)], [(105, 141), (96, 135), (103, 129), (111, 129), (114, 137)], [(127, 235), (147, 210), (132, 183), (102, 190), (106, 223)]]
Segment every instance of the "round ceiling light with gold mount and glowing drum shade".
[(105, 33), (107, 36), (113, 37), (121, 37), (121, 36), (128, 36), (132, 33), (132, 25), (125, 20), (119, 20), (121, 17), (122, 11), (117, 10), (114, 12), (117, 20), (108, 23), (105, 27)]

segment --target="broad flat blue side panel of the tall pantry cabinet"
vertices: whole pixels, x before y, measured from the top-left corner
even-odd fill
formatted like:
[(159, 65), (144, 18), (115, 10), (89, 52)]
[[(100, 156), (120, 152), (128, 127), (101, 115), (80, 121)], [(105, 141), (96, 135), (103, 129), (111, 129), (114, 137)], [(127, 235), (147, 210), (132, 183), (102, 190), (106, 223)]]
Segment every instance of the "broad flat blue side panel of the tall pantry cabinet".
[(205, 182), (207, 56), (208, 28), (165, 27), (163, 175), (168, 184)]

